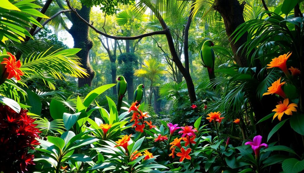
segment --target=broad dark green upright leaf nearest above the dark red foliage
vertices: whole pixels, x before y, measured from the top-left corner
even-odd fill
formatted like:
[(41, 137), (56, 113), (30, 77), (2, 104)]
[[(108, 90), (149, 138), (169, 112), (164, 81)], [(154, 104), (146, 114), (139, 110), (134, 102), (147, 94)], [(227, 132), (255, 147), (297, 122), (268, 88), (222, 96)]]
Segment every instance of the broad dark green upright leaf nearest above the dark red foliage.
[(42, 103), (39, 96), (31, 90), (26, 90), (26, 93), (28, 97), (26, 103), (27, 105), (31, 106), (31, 108), (29, 108), (29, 111), (36, 115), (40, 115), (42, 110)]

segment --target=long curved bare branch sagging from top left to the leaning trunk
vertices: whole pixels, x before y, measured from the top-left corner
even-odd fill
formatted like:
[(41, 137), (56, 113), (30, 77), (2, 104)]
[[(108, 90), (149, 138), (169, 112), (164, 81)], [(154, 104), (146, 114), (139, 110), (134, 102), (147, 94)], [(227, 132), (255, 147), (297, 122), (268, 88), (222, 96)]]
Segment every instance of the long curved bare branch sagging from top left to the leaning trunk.
[(92, 28), (95, 32), (97, 32), (98, 34), (101, 34), (105, 37), (108, 37), (108, 38), (112, 38), (114, 40), (136, 40), (136, 39), (139, 39), (139, 38), (144, 38), (144, 37), (148, 37), (148, 36), (151, 36), (151, 35), (166, 35), (169, 30), (168, 29), (164, 29), (164, 30), (161, 30), (161, 31), (154, 31), (154, 32), (150, 32), (150, 33), (147, 33), (147, 34), (142, 34), (142, 35), (137, 35), (137, 36), (133, 36), (133, 37), (119, 37), (119, 36), (113, 36), (113, 35), (109, 35), (109, 34), (106, 34), (104, 32), (101, 32), (99, 31), (97, 28), (95, 28), (93, 25), (91, 25), (89, 22), (87, 22), (85, 19), (83, 19), (75, 10), (75, 8), (72, 8), (71, 7), (71, 4), (69, 2), (69, 0), (65, 0), (67, 2), (67, 6), (72, 10), (72, 12), (74, 12), (76, 14), (76, 16), (83, 22), (85, 22), (85, 24), (87, 24), (90, 28)]

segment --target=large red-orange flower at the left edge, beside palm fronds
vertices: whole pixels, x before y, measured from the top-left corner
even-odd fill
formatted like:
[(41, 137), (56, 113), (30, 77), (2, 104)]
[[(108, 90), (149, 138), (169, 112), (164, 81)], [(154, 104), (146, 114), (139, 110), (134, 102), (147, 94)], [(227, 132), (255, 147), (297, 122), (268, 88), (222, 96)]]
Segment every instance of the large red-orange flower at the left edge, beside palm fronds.
[(15, 55), (12, 55), (11, 53), (7, 52), (9, 55), (9, 59), (3, 58), (3, 61), (1, 64), (6, 64), (6, 72), (9, 73), (8, 79), (15, 76), (17, 81), (19, 81), (21, 78), (20, 76), (24, 75), (24, 73), (19, 69), (21, 67), (20, 60), (16, 61)]

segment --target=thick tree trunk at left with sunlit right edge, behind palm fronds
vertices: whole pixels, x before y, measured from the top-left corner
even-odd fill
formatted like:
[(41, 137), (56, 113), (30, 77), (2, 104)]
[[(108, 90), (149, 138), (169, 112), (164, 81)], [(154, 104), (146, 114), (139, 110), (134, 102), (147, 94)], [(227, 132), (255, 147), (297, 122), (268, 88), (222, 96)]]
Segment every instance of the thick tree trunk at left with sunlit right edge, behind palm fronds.
[[(86, 21), (90, 20), (90, 7), (82, 5), (81, 10), (77, 9), (79, 15), (82, 16)], [(87, 70), (88, 76), (84, 78), (78, 78), (78, 87), (82, 87), (85, 84), (91, 86), (92, 80), (94, 78), (94, 71), (90, 66), (89, 61), (89, 51), (93, 46), (93, 42), (89, 38), (89, 27), (84, 22), (82, 22), (74, 13), (71, 13), (72, 27), (69, 33), (74, 39), (74, 48), (81, 48), (76, 55), (81, 58), (82, 68)]]

